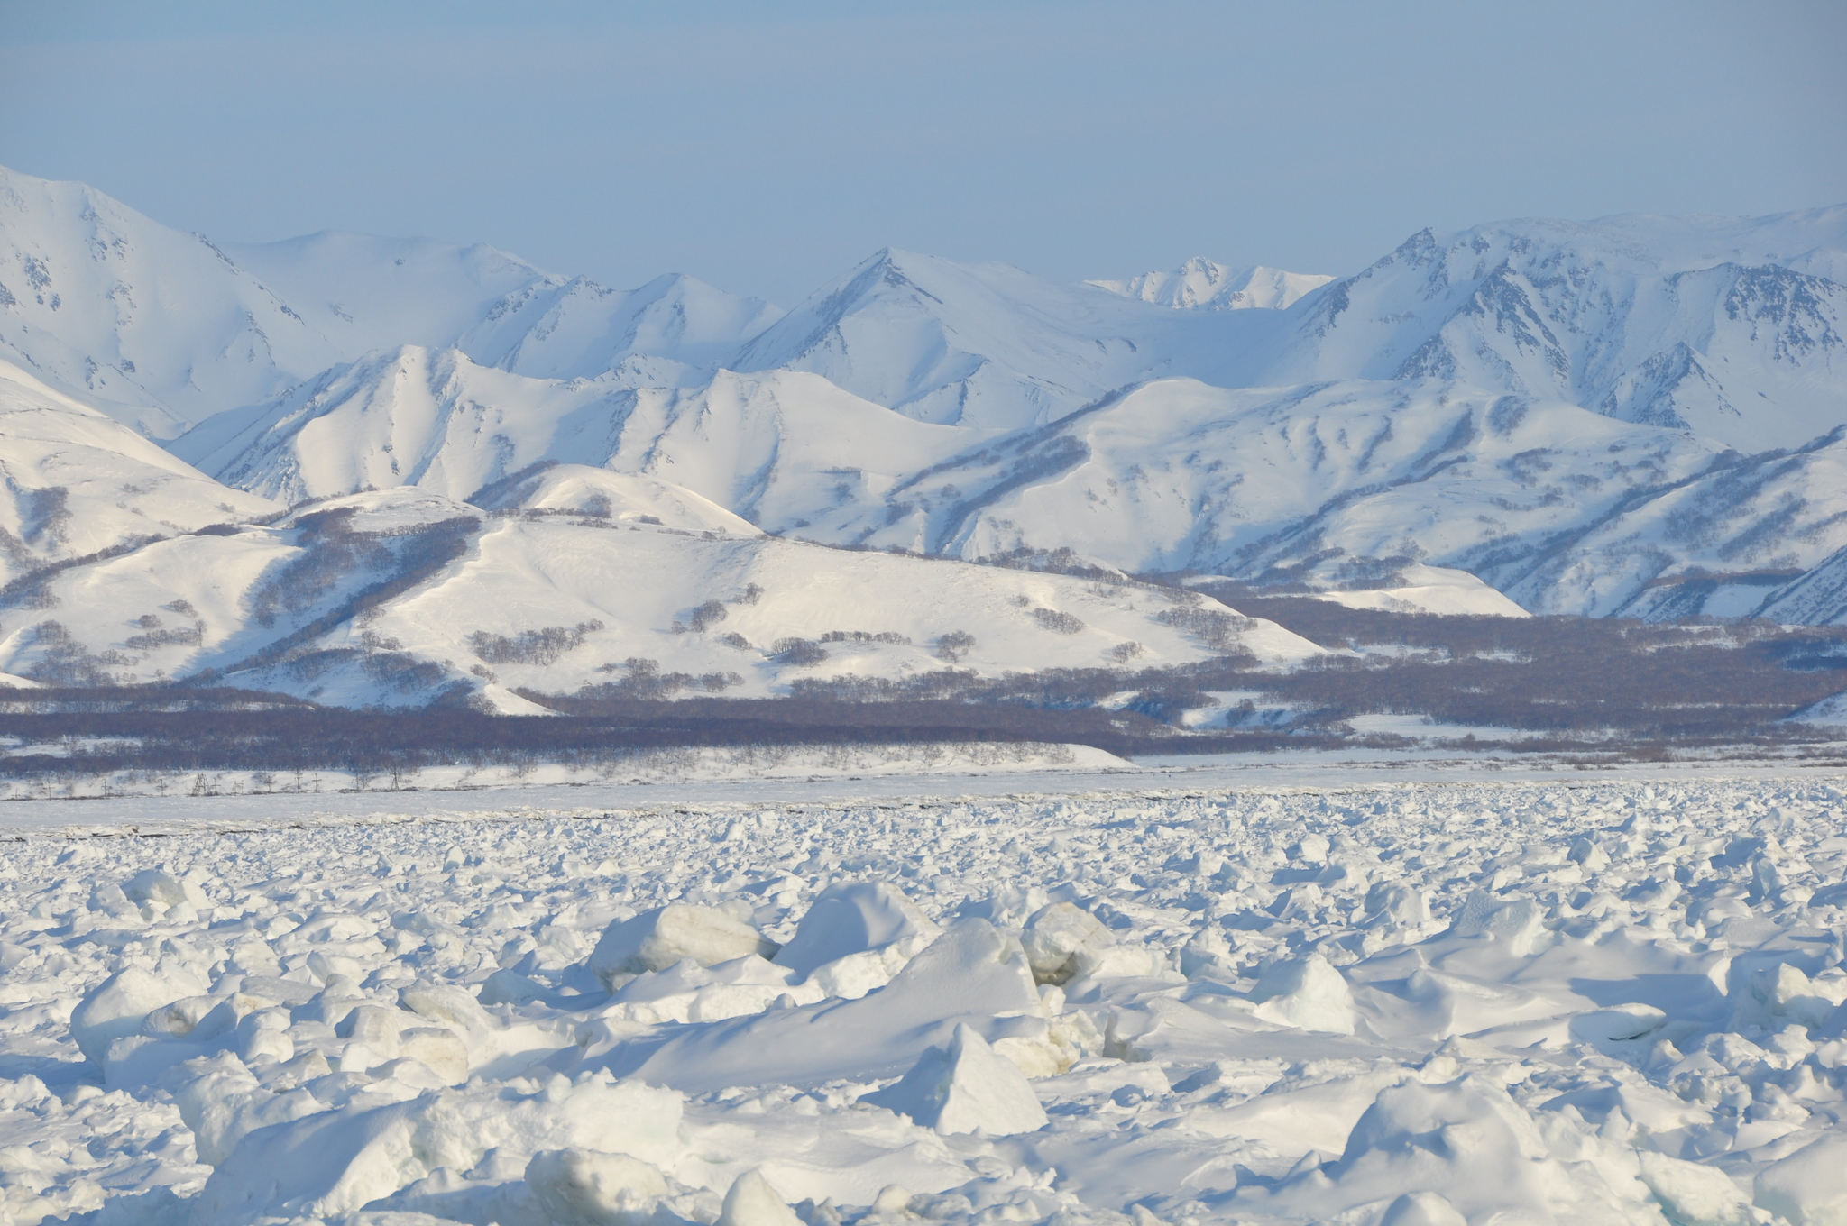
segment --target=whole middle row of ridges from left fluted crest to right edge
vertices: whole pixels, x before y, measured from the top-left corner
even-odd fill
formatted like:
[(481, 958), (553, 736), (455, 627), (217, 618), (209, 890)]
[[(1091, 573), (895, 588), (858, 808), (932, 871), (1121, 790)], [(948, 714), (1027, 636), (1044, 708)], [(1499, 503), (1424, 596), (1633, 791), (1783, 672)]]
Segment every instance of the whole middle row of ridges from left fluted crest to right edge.
[[(1681, 580), (1781, 583), (1847, 545), (1841, 438), (1740, 456), (1441, 380), (1158, 380), (996, 434), (912, 421), (818, 375), (622, 388), (406, 349), (249, 412), (174, 447), (283, 500), (392, 486), (467, 499), (558, 462), (667, 482), (761, 530), (835, 545), (968, 559), (1064, 547), (1130, 572), (1287, 574), (1334, 591), (1372, 585), (1374, 571), (1382, 591), (1415, 587), (1394, 576), (1422, 559), (1553, 613), (1742, 615), (1731, 595), (1690, 606), (1707, 587)], [(1400, 561), (1361, 565), (1378, 558)]]

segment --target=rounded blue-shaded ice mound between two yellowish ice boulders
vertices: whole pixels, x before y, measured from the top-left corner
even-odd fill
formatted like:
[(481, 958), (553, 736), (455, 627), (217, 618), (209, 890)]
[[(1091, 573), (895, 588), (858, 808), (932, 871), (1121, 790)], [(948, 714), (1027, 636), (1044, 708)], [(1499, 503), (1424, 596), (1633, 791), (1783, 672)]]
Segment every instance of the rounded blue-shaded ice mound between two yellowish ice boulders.
[(776, 964), (853, 1001), (888, 982), (938, 936), (942, 929), (883, 881), (831, 884), (776, 953)]

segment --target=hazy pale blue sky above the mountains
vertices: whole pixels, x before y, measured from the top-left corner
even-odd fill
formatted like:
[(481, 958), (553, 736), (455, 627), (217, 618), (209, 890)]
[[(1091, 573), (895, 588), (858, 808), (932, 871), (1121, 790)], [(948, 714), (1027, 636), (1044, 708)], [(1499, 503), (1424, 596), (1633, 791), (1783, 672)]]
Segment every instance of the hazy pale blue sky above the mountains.
[(881, 246), (1354, 271), (1507, 216), (1847, 201), (1847, 4), (0, 0), (0, 162), (220, 240), (792, 303)]

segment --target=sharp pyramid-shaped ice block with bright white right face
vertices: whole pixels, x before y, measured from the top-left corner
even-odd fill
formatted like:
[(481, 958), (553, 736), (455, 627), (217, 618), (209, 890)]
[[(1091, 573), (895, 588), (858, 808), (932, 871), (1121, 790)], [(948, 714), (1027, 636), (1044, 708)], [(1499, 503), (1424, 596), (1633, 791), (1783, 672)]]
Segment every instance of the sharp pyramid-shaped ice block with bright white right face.
[(968, 1025), (955, 1028), (948, 1051), (931, 1047), (896, 1086), (863, 1100), (944, 1134), (1005, 1137), (1045, 1126), (1032, 1084)]

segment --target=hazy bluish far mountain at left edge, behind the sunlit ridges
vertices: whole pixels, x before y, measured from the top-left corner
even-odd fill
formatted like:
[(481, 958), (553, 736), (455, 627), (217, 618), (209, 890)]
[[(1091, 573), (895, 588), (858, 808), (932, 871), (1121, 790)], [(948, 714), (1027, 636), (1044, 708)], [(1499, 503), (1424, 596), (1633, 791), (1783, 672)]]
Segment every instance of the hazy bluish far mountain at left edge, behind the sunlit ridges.
[(170, 439), (401, 345), (558, 379), (704, 369), (778, 318), (691, 277), (634, 292), (486, 246), (321, 233), (214, 246), (0, 168), (0, 358)]

